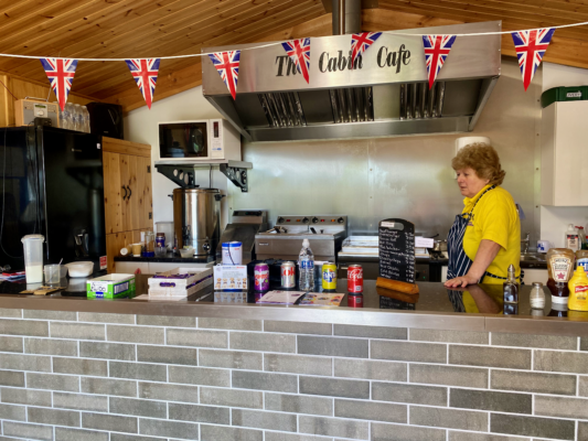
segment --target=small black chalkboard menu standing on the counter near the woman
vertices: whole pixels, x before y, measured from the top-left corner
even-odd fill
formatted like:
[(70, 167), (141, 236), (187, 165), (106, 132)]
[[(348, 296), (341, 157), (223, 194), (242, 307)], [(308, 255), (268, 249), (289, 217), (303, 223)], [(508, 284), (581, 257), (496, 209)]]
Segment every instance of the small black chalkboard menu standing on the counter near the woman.
[(379, 277), (415, 282), (415, 225), (404, 219), (379, 223)]

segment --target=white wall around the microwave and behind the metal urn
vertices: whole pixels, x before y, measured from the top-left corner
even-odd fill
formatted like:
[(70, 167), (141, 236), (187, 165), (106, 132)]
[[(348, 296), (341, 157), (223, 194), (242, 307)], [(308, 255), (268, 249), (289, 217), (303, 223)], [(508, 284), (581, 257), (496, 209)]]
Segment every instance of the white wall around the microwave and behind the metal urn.
[[(157, 89), (156, 89), (157, 94)], [(214, 107), (202, 96), (202, 86), (194, 87), (181, 94), (171, 96), (160, 101), (153, 103), (151, 110), (143, 106), (132, 110), (125, 118), (125, 138), (132, 142), (143, 142), (151, 146), (151, 170), (153, 171), (153, 219), (173, 220), (173, 205), (169, 194), (178, 187), (172, 181), (157, 172), (154, 160), (157, 149), (159, 148), (159, 127), (160, 121), (189, 120), (189, 119), (209, 119), (220, 118)], [(227, 179), (218, 170), (212, 173), (212, 185), (209, 184), (209, 170), (202, 170), (196, 173), (195, 183), (202, 187), (220, 189), (221, 193), (226, 194)], [(232, 185), (232, 184), (231, 184)], [(226, 198), (223, 198), (226, 205)], [(222, 213), (225, 218), (222, 225), (226, 224), (226, 207), (222, 206)]]

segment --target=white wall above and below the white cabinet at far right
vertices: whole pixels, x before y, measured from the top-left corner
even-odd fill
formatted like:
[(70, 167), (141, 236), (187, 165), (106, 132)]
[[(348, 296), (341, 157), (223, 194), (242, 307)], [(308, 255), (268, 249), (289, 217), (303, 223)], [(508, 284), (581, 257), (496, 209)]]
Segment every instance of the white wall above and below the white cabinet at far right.
[[(588, 85), (588, 69), (543, 63), (544, 92), (552, 87), (581, 85)], [(552, 241), (555, 247), (564, 246), (564, 232), (568, 224), (586, 228), (587, 223), (588, 207), (541, 207), (541, 238)]]

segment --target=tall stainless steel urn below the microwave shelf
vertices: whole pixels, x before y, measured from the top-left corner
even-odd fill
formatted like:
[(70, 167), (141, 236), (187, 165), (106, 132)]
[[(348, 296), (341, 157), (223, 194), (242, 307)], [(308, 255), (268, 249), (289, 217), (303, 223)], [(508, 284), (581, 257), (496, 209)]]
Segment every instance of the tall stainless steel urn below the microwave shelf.
[(194, 256), (212, 255), (220, 237), (221, 195), (217, 189), (174, 189), (173, 230), (178, 248), (191, 246)]

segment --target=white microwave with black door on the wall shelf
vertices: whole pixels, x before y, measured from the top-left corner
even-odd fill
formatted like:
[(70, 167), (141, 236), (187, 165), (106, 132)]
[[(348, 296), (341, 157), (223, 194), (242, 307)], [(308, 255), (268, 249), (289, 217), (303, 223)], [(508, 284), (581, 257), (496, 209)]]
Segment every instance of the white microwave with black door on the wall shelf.
[(164, 162), (240, 161), (240, 135), (225, 119), (160, 122), (157, 157)]

